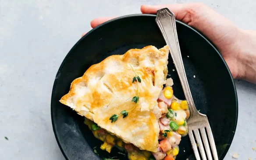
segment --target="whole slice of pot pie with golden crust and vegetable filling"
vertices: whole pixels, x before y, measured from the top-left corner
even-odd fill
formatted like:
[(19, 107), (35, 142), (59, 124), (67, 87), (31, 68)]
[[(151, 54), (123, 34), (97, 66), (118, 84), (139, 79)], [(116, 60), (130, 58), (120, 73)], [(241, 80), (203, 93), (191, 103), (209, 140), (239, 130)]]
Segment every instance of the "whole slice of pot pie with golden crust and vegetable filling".
[(104, 141), (103, 150), (117, 144), (128, 156), (134, 157), (134, 150), (145, 156), (145, 150), (146, 160), (175, 157), (189, 111), (186, 101), (173, 96), (172, 80), (166, 80), (168, 54), (168, 46), (146, 46), (109, 56), (75, 79), (60, 102), (85, 116), (94, 136)]

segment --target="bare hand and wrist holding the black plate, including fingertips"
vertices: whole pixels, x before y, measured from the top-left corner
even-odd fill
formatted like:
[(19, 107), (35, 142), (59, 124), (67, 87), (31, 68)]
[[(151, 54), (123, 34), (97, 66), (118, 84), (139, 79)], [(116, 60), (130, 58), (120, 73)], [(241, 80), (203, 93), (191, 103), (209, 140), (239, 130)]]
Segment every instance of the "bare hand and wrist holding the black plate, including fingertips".
[[(142, 5), (143, 14), (156, 14), (161, 8), (169, 8), (176, 19), (202, 32), (222, 54), (233, 78), (256, 83), (256, 31), (236, 27), (202, 3)], [(101, 17), (91, 21), (92, 28), (115, 17)], [(84, 36), (84, 33), (82, 36)]]

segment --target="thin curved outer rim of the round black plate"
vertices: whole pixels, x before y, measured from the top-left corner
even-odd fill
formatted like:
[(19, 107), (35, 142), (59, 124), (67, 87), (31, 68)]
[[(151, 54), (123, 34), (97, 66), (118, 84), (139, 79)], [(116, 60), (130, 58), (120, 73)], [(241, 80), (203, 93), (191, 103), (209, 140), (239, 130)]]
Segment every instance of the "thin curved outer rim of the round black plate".
[[(80, 39), (78, 40), (78, 42), (75, 43), (75, 45), (71, 48), (71, 50), (70, 50), (70, 51), (68, 52), (68, 54), (65, 56), (64, 60), (62, 61), (61, 65), (60, 65), (60, 68), (59, 68), (58, 71), (57, 71), (56, 77), (58, 76), (59, 71), (62, 69), (62, 67), (63, 67), (64, 63), (67, 61), (68, 57), (71, 55), (72, 50), (75, 49), (75, 47), (76, 47), (85, 37), (87, 37), (89, 34), (91, 34), (93, 31), (95, 31), (95, 30), (98, 29), (98, 28), (101, 28), (101, 27), (102, 27), (103, 25), (105, 25), (105, 24), (111, 23), (111, 22), (113, 22), (113, 21), (118, 21), (119, 19), (129, 18), (129, 17), (144, 17), (144, 16), (145, 16), (145, 17), (156, 17), (156, 15), (154, 15), (154, 14), (129, 14), (129, 15), (117, 17), (117, 18), (111, 19), (111, 20), (109, 20), (109, 21), (106, 21), (106, 22), (104, 22), (103, 24), (100, 24), (100, 25), (98, 25), (96, 28), (93, 28), (92, 30), (90, 30), (89, 32), (87, 32), (82, 38), (80, 38)], [(196, 32), (199, 36), (201, 36), (203, 39), (205, 39), (205, 41), (208, 42), (208, 43), (213, 47), (213, 49), (215, 49), (215, 51), (218, 53), (218, 56), (220, 56), (220, 59), (222, 60), (222, 62), (225, 64), (225, 67), (227, 68), (228, 74), (229, 74), (229, 76), (230, 76), (230, 78), (231, 78), (231, 82), (232, 82), (233, 89), (234, 89), (234, 93), (235, 93), (235, 110), (236, 110), (236, 113), (235, 113), (235, 125), (234, 125), (233, 131), (236, 131), (237, 122), (238, 122), (238, 97), (237, 97), (237, 91), (236, 91), (236, 87), (235, 87), (235, 82), (234, 82), (234, 80), (233, 80), (233, 77), (232, 77), (232, 75), (231, 75), (231, 72), (230, 72), (230, 70), (229, 70), (229, 68), (228, 68), (227, 63), (225, 62), (224, 58), (221, 56), (220, 52), (219, 52), (219, 51), (216, 49), (216, 47), (212, 44), (212, 42), (210, 42), (210, 40), (208, 40), (208, 38), (206, 38), (202, 33), (200, 33), (200, 32), (197, 31), (195, 28), (192, 28), (192, 27), (190, 27), (189, 25), (187, 25), (187, 24), (185, 24), (185, 23), (183, 23), (183, 22), (181, 22), (181, 21), (176, 20), (176, 23), (179, 23), (179, 24), (181, 24), (181, 25), (184, 25), (184, 26), (190, 28), (192, 31)], [(53, 118), (53, 108), (54, 108), (54, 106), (53, 106), (52, 101), (54, 101), (54, 99), (53, 99), (53, 92), (55, 91), (55, 86), (56, 86), (56, 83), (57, 83), (56, 77), (55, 77), (55, 80), (54, 80), (54, 83), (53, 83), (53, 90), (52, 90), (52, 96), (51, 96), (51, 120), (52, 120), (52, 125), (53, 125), (54, 136), (55, 136), (55, 138), (56, 138), (56, 141), (57, 141), (57, 143), (58, 143), (58, 146), (59, 146), (59, 148), (60, 148), (60, 150), (61, 150), (61, 153), (62, 153), (63, 156), (65, 157), (65, 159), (68, 160), (67, 155), (64, 153), (64, 150), (63, 150), (62, 146), (60, 145), (60, 142), (59, 142), (59, 139), (58, 139), (58, 136), (57, 136), (57, 133), (56, 133), (54, 118)], [(233, 139), (234, 139), (234, 136), (235, 136), (235, 132), (232, 132), (232, 133), (231, 133), (231, 138), (230, 138), (229, 143), (228, 143), (229, 145), (225, 148), (225, 150), (224, 150), (224, 152), (222, 153), (222, 156), (220, 157), (220, 159), (224, 159), (224, 157), (225, 157), (226, 154), (228, 153), (228, 150), (229, 150), (229, 148), (230, 148), (230, 146), (231, 146), (231, 143), (232, 143), (232, 141), (233, 141)]]

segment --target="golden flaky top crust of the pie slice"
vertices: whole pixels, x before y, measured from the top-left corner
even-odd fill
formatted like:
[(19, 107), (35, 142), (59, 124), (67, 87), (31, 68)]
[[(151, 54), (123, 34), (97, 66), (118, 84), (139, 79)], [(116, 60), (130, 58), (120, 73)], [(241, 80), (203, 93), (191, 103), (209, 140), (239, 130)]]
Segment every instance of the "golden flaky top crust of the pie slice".
[[(158, 50), (149, 45), (143, 49), (130, 49), (124, 55), (109, 56), (75, 79), (60, 102), (125, 143), (156, 152), (158, 119), (161, 117), (157, 99), (167, 76), (168, 53), (168, 46)], [(137, 83), (132, 83), (135, 77), (132, 68), (141, 78), (137, 105), (132, 102), (138, 91)], [(111, 123), (109, 118), (124, 110), (130, 111), (128, 116), (120, 115)]]

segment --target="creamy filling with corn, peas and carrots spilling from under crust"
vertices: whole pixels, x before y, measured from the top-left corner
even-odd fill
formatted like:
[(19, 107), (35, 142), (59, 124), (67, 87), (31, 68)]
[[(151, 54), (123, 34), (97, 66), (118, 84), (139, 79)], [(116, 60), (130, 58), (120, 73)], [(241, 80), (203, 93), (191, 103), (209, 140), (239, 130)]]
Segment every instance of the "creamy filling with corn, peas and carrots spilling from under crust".
[[(159, 146), (156, 153), (146, 150), (139, 150), (131, 143), (124, 143), (116, 136), (110, 135), (101, 129), (94, 122), (85, 118), (85, 124), (92, 130), (93, 135), (104, 143), (100, 146), (101, 150), (111, 152), (113, 146), (125, 149), (129, 160), (174, 160), (179, 153), (179, 143), (181, 137), (188, 134), (186, 120), (189, 117), (187, 101), (181, 101), (174, 97), (171, 85), (173, 81), (167, 79), (166, 87), (161, 91), (158, 98), (158, 107), (161, 109), (162, 116), (158, 121), (160, 128)], [(168, 86), (169, 85), (169, 86)]]

